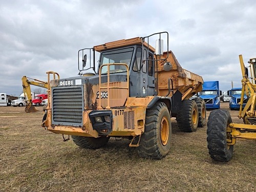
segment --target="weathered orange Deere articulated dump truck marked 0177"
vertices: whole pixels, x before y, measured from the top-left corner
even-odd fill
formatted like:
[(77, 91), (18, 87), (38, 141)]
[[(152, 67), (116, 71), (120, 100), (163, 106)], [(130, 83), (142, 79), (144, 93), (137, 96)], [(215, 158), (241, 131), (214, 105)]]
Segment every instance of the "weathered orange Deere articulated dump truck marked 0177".
[[(153, 37), (156, 48), (149, 44)], [(203, 79), (168, 51), (167, 32), (81, 49), (78, 70), (77, 77), (49, 82), (42, 127), (64, 140), (71, 135), (82, 148), (120, 137), (130, 139), (141, 157), (161, 159), (170, 149), (171, 117), (184, 132), (206, 123), (204, 101), (189, 99), (202, 90)]]

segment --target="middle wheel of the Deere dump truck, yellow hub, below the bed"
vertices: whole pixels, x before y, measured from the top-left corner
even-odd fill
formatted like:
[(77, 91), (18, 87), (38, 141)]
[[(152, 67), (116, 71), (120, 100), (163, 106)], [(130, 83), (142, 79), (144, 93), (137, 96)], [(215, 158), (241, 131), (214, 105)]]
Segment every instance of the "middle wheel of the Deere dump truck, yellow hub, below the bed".
[(198, 126), (198, 106), (195, 100), (183, 100), (181, 111), (177, 114), (178, 127), (183, 132), (195, 132)]

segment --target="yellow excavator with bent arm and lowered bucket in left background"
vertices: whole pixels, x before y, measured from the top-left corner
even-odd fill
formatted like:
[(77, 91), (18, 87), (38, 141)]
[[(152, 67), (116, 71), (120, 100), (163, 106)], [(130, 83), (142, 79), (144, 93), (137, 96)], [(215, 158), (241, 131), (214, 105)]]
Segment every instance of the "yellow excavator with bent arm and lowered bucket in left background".
[[(50, 74), (53, 75), (53, 79), (56, 79), (56, 77), (59, 79), (59, 74), (58, 73), (55, 73), (53, 71), (48, 71), (46, 73), (47, 73), (47, 76), (48, 76), (48, 82), (50, 81)], [(23, 78), (22, 78), (23, 92), (24, 92), (24, 95), (27, 95), (27, 97), (28, 97), (26, 108), (25, 108), (25, 112), (27, 112), (27, 113), (35, 113), (35, 112), (38, 111), (32, 105), (32, 97), (31, 97), (30, 85), (32, 84), (33, 86), (38, 86), (38, 87), (41, 87), (41, 88), (46, 88), (47, 89), (47, 94), (48, 94), (48, 100), (49, 100), (50, 89), (49, 89), (49, 86), (48, 86), (48, 82), (47, 81), (41, 81), (41, 80), (38, 80), (38, 79), (32, 79), (32, 78), (23, 76)]]

